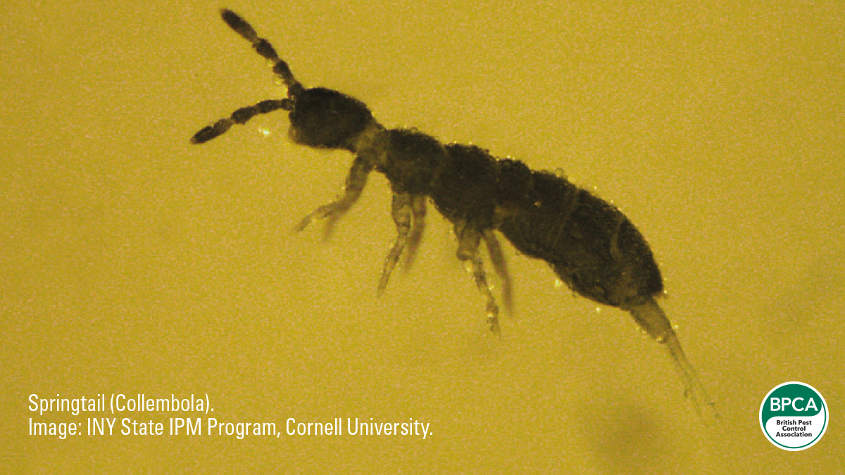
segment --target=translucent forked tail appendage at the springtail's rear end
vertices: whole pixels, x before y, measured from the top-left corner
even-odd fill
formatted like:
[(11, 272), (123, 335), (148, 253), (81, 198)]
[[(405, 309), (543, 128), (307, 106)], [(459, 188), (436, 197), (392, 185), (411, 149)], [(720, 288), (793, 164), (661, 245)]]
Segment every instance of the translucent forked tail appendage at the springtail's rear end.
[(672, 329), (672, 325), (669, 323), (666, 314), (663, 313), (662, 308), (654, 301), (654, 298), (648, 298), (645, 303), (633, 305), (626, 309), (630, 311), (630, 314), (643, 330), (646, 330), (658, 343), (666, 345), (675, 369), (678, 370), (678, 374), (684, 382), (684, 396), (690, 399), (695, 407), (695, 412), (698, 413), (704, 423), (708, 425), (714, 423), (719, 418), (719, 413), (710, 396), (707, 395), (704, 385), (701, 385), (701, 380), (695, 374), (695, 369), (687, 361), (678, 336)]

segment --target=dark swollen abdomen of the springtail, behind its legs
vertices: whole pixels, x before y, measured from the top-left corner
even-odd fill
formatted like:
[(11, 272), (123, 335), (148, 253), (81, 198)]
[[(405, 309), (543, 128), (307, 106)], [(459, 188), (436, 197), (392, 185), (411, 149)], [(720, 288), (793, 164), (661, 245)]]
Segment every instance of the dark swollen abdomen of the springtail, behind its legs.
[(526, 171), (502, 180), (512, 189), (499, 200), (499, 231), (517, 250), (599, 303), (628, 308), (662, 292), (651, 249), (621, 211), (562, 177)]

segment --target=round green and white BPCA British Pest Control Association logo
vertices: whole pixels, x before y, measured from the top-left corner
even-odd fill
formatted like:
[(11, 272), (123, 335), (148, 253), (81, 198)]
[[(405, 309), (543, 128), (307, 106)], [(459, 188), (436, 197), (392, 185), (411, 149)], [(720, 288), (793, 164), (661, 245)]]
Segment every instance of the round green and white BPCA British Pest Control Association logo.
[(760, 404), (760, 428), (783, 450), (804, 450), (827, 429), (827, 404), (811, 385), (793, 381), (775, 386)]

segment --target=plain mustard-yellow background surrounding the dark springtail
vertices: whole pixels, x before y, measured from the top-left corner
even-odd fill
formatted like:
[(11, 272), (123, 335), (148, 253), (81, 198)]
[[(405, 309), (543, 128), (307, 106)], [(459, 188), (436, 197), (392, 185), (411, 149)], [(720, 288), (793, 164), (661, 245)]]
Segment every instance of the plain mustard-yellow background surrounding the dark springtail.
[[(841, 2), (226, 4), (304, 85), (355, 96), (389, 127), (560, 169), (619, 205), (661, 265), (662, 305), (722, 412), (715, 429), (629, 315), (573, 298), (510, 245), (517, 315), (491, 336), (433, 209), (414, 269), (377, 299), (395, 237), (384, 177), (330, 242), (319, 224), (292, 234), (335, 196), (351, 156), (292, 145), (284, 112), (188, 143), (235, 108), (284, 94), (221, 6), (0, 6), (0, 464), (841, 469)], [(831, 407), (826, 435), (802, 452), (766, 441), (757, 415), (790, 380)], [(57, 393), (208, 393), (224, 421), (415, 418), (433, 434), (27, 435), (28, 396)], [(165, 426), (168, 416), (128, 415)]]

